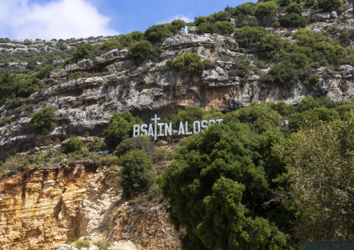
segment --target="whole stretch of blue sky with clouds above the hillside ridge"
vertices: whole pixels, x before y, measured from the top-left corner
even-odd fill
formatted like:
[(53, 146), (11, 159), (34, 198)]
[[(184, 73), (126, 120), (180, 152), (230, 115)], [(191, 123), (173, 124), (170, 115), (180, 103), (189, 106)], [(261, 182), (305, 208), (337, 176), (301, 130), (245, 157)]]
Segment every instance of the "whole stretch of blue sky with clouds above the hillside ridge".
[(0, 38), (86, 38), (145, 31), (174, 19), (192, 21), (245, 1), (0, 0)]

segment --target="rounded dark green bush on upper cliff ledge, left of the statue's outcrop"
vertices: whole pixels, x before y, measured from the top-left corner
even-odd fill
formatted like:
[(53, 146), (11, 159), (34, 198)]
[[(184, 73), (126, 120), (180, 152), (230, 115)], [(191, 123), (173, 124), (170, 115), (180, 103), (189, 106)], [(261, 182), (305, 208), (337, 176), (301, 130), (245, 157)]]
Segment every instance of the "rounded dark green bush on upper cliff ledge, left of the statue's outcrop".
[(128, 58), (134, 58), (137, 63), (144, 60), (155, 60), (156, 50), (150, 42), (141, 40), (135, 42), (128, 50)]

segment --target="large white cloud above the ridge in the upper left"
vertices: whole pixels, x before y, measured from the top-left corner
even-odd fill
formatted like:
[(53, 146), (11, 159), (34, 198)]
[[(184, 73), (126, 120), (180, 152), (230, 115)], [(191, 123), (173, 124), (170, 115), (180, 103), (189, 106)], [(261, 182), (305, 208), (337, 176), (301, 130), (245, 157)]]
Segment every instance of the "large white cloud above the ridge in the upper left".
[(0, 0), (0, 38), (87, 38), (118, 35), (109, 28), (109, 17), (87, 0)]

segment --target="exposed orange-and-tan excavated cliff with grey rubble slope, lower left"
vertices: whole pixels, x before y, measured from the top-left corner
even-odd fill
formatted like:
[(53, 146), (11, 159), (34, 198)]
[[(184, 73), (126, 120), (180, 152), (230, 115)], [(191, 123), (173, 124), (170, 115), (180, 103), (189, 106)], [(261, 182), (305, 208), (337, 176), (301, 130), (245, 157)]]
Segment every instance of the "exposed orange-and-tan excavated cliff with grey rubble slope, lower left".
[(115, 171), (92, 161), (26, 169), (1, 179), (0, 249), (53, 249), (82, 236), (115, 242), (112, 249), (127, 242), (179, 249), (163, 203), (124, 202), (118, 180)]

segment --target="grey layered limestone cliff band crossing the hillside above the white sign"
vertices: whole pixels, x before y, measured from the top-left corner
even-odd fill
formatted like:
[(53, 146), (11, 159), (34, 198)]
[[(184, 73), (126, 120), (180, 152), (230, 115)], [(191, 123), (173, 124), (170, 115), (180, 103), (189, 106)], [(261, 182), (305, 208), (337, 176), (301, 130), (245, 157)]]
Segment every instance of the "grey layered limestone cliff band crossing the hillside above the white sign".
[[(342, 19), (344, 15), (345, 20)], [(352, 10), (347, 10), (340, 17), (333, 12), (319, 13), (309, 18), (312, 23), (307, 29), (315, 32), (327, 31), (332, 24), (344, 29), (351, 29), (354, 24)], [(285, 36), (286, 32), (292, 34), (296, 29), (269, 28), (268, 31)], [(228, 40), (231, 42), (226, 44), (225, 37), (217, 34), (178, 34), (162, 43), (157, 62), (144, 61), (136, 66), (127, 58), (128, 50), (113, 49), (102, 56), (66, 65), (63, 70), (53, 70), (50, 78), (44, 80), (47, 87), (33, 93), (31, 99), (35, 105), (34, 111), (45, 106), (57, 107), (59, 121), (56, 130), (35, 135), (29, 125), (28, 111), (15, 114), (4, 105), (0, 107), (0, 118), (10, 116), (12, 123), (0, 127), (0, 152), (11, 148), (27, 150), (86, 131), (98, 135), (107, 127), (112, 114), (124, 110), (139, 115), (147, 122), (153, 114), (163, 117), (190, 104), (222, 111), (227, 106), (231, 111), (251, 102), (283, 100), (288, 104), (297, 104), (307, 94), (328, 96), (336, 101), (353, 100), (354, 68), (351, 65), (342, 65), (338, 72), (330, 68), (312, 68), (312, 72), (319, 75), (315, 85), (306, 85), (301, 81), (291, 88), (263, 84), (256, 74), (246, 79), (230, 74), (236, 67), (235, 61), (245, 55), (233, 46), (237, 42), (233, 36)], [(202, 58), (212, 59), (215, 68), (204, 70), (202, 75), (190, 75), (167, 67), (168, 59), (186, 52), (197, 52)], [(254, 60), (256, 49), (248, 49), (247, 57)], [(269, 69), (262, 71), (265, 73)], [(87, 77), (68, 80), (73, 72), (88, 74)]]

